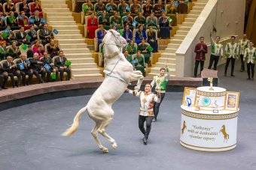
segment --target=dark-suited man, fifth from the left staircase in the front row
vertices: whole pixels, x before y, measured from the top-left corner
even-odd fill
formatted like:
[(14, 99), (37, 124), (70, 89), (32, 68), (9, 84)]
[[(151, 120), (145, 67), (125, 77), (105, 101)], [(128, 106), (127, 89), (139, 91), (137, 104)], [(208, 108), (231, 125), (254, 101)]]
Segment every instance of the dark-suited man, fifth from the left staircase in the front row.
[(20, 71), (17, 69), (17, 65), (14, 64), (13, 58), (11, 56), (7, 57), (7, 61), (3, 64), (3, 70), (8, 73), (8, 76), (10, 76), (13, 88), (16, 88), (14, 76), (17, 76), (18, 78), (17, 87), (20, 87), (20, 82), (21, 82)]

